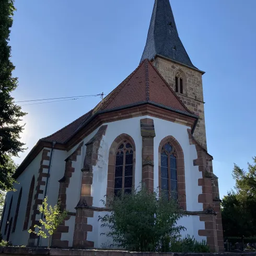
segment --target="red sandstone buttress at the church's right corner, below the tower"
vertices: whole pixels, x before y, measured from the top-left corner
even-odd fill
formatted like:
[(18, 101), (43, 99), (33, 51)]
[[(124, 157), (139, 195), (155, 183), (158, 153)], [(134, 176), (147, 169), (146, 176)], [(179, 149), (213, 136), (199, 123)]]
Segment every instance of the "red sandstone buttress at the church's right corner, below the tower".
[(202, 172), (202, 179), (198, 180), (198, 185), (202, 186), (202, 194), (198, 197), (198, 202), (203, 204), (206, 213), (213, 213), (215, 216), (201, 216), (200, 220), (205, 222), (205, 230), (199, 230), (200, 236), (207, 237), (207, 245), (215, 251), (224, 251), (222, 216), (220, 213), (220, 201), (218, 193), (217, 177), (213, 174), (213, 157), (191, 134), (188, 129), (190, 144), (195, 145), (197, 159), (194, 159), (194, 166), (199, 166)]

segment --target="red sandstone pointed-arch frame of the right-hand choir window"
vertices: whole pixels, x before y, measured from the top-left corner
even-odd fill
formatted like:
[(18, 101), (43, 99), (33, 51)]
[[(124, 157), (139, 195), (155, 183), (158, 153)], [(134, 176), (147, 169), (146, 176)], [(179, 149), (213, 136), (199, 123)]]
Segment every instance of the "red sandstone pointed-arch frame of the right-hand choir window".
[(183, 150), (176, 138), (169, 135), (163, 138), (158, 147), (158, 187), (161, 193), (161, 150), (162, 147), (170, 143), (177, 155), (177, 180), (178, 180), (178, 200), (180, 207), (187, 210), (186, 190), (185, 190), (185, 168), (184, 168), (184, 154)]

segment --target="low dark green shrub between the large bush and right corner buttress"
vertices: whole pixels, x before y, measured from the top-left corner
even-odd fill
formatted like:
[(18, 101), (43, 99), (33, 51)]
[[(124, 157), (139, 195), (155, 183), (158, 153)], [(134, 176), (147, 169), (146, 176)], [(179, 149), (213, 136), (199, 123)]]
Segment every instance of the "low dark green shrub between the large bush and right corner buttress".
[(172, 240), (170, 243), (170, 252), (210, 252), (210, 247), (206, 241), (198, 242), (194, 237), (189, 235), (183, 239)]

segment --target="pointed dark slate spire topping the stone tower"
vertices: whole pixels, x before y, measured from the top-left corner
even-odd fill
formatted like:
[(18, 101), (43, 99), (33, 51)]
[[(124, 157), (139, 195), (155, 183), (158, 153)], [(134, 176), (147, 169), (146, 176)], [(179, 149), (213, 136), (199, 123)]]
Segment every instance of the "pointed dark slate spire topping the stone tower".
[(179, 38), (169, 0), (155, 0), (141, 61), (152, 60), (156, 55), (196, 68)]

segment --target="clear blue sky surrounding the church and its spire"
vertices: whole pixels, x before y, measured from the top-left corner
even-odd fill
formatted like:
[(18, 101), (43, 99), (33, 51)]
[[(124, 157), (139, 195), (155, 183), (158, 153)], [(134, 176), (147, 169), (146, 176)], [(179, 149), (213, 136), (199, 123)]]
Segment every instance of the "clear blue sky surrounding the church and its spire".
[[(154, 0), (17, 0), (10, 37), (16, 101), (108, 94), (139, 64)], [(234, 162), (256, 156), (256, 1), (171, 0), (179, 36), (203, 75), (208, 152), (220, 196)], [(99, 97), (23, 106), (28, 150)]]

